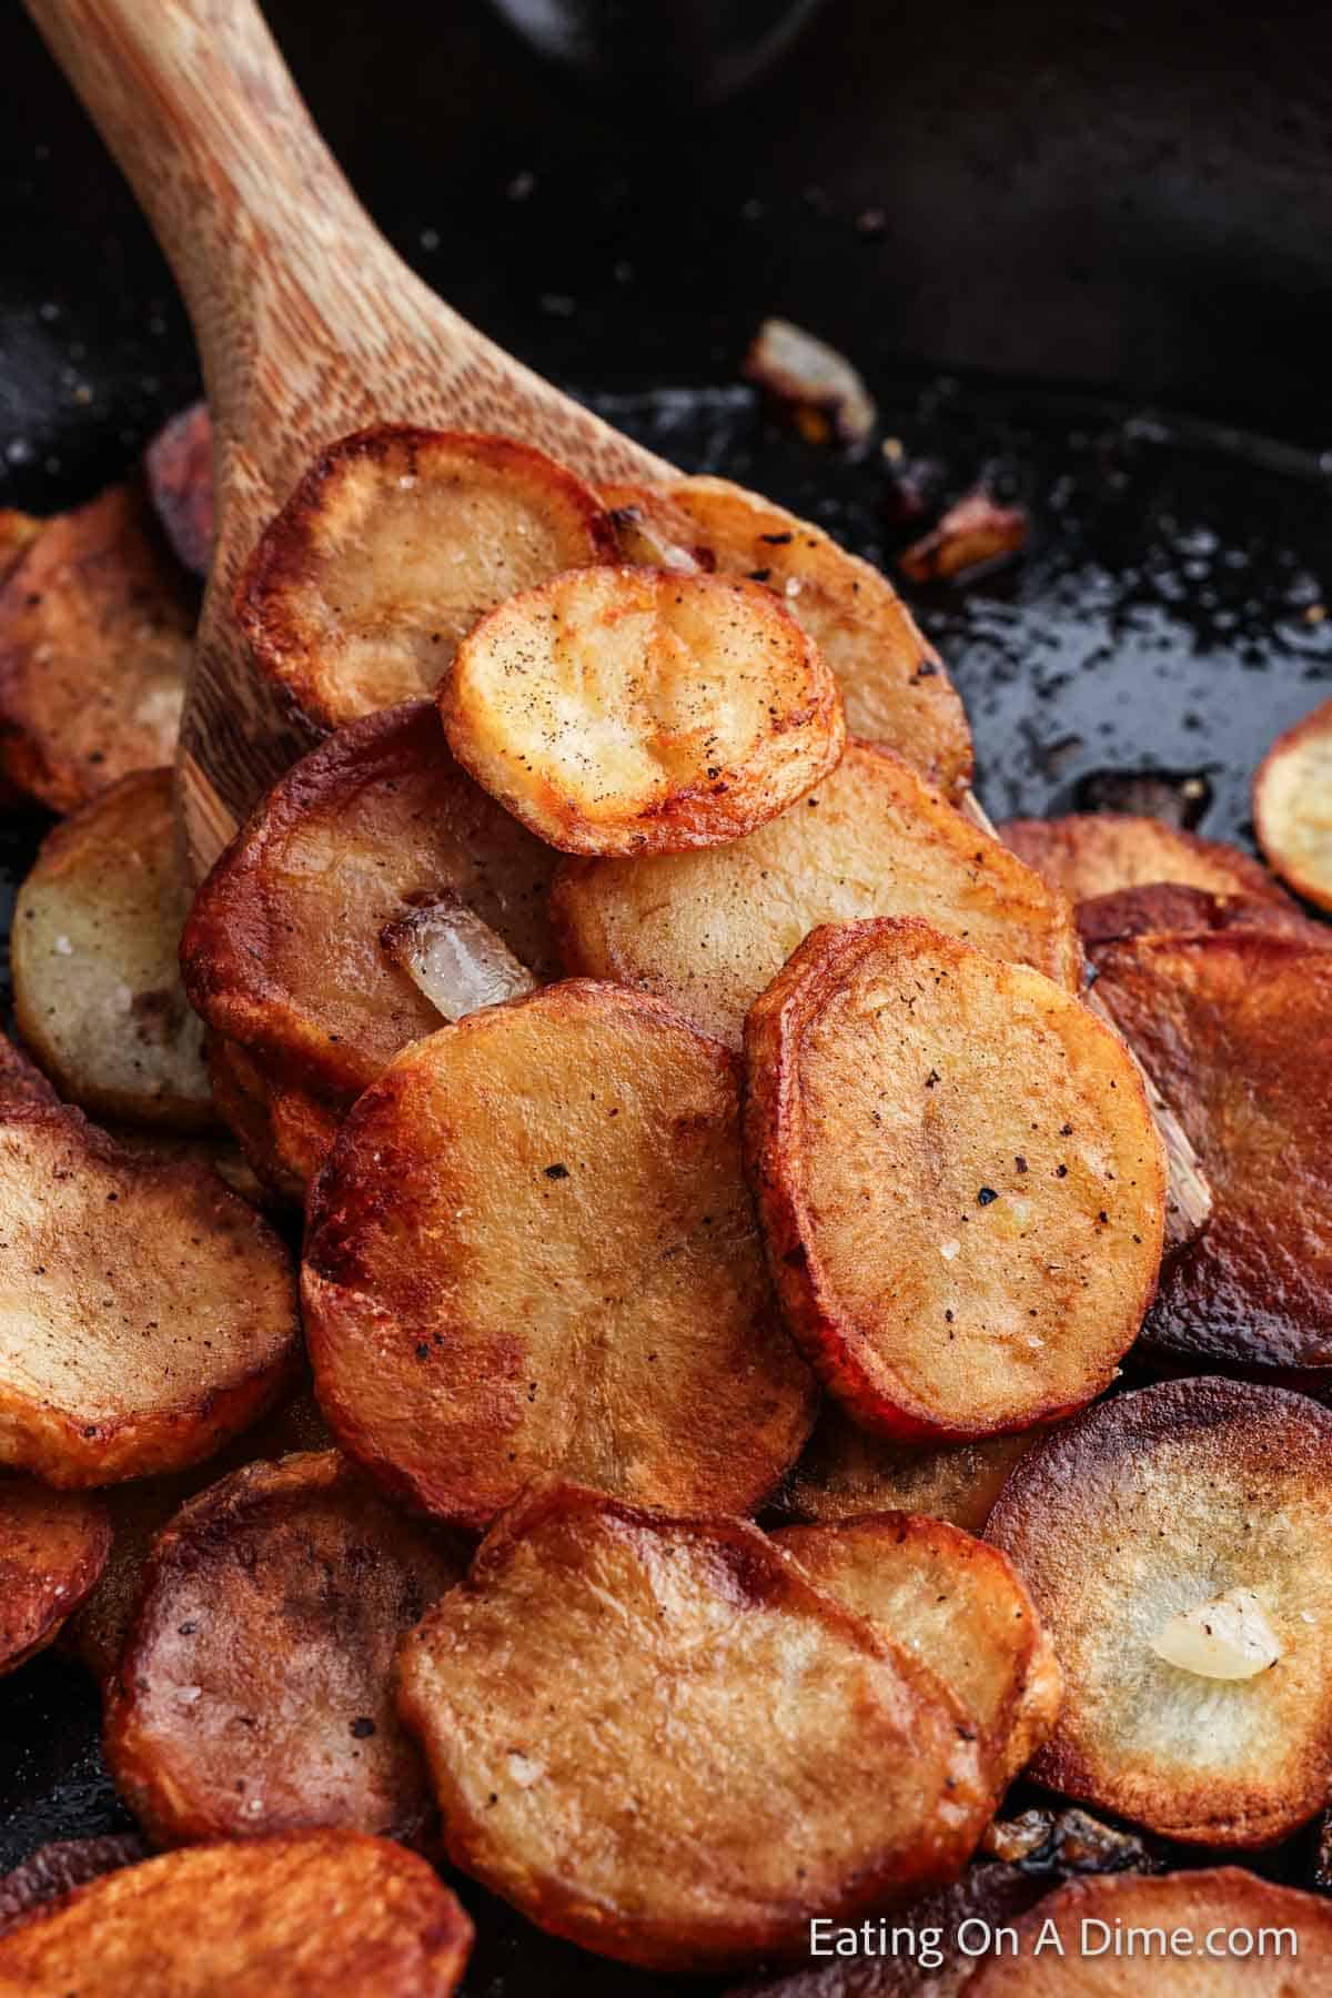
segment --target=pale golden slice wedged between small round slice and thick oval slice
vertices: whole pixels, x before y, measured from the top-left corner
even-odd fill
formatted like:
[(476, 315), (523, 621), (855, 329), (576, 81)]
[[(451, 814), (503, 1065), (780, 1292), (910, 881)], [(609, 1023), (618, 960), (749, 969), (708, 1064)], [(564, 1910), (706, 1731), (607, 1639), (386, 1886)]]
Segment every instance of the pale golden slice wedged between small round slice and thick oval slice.
[(565, 861), (551, 911), (567, 971), (653, 991), (731, 1047), (819, 923), (921, 915), (1070, 991), (1082, 981), (1064, 897), (873, 743), (849, 743), (809, 797), (721, 851)]

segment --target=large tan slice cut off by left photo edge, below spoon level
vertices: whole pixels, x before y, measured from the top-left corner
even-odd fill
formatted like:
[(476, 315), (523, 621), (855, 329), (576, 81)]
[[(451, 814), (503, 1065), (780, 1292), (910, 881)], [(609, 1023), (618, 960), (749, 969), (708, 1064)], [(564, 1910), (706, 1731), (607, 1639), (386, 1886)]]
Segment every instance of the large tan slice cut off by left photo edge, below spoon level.
[(0, 1111), (0, 1463), (112, 1485), (198, 1463), (292, 1379), (280, 1237), (216, 1173), (78, 1111)]

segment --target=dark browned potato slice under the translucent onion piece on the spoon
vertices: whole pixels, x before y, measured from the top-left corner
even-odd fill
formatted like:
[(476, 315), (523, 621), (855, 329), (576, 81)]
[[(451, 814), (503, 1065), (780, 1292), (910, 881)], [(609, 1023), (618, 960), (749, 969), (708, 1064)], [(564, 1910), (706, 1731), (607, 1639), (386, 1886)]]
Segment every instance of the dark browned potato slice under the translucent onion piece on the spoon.
[(192, 1005), (234, 1043), (218, 1107), (256, 1171), (302, 1191), (341, 1117), (439, 1013), (383, 929), (455, 893), (555, 975), (555, 855), (453, 763), (429, 701), (369, 715), (268, 793), (204, 881), (182, 941)]

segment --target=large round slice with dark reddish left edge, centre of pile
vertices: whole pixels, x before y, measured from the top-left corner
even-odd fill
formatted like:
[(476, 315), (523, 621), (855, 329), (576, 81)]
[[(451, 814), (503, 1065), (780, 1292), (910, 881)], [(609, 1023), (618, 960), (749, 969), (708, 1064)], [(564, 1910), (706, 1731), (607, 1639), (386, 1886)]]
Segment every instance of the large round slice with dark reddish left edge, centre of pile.
[(591, 983), (399, 1055), (310, 1195), (306, 1337), (343, 1449), (467, 1526), (547, 1471), (759, 1504), (815, 1395), (763, 1271), (737, 1071)]

